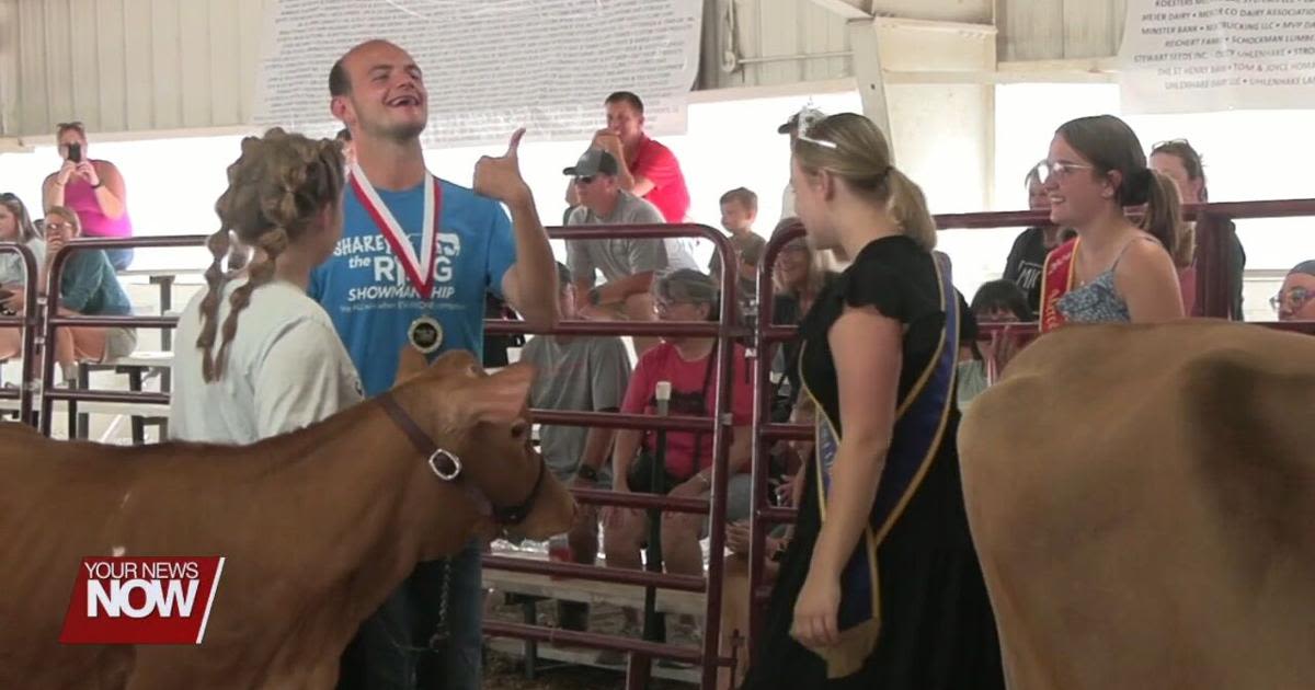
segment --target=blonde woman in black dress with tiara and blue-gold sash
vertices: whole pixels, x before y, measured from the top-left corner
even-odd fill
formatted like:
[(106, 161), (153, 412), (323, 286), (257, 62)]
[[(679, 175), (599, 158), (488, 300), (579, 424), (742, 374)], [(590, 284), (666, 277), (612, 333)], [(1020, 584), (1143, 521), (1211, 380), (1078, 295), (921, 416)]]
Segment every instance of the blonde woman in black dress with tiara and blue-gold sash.
[(852, 260), (801, 325), (817, 453), (743, 687), (1003, 687), (955, 435), (959, 302), (922, 191), (865, 117), (801, 114), (809, 242)]

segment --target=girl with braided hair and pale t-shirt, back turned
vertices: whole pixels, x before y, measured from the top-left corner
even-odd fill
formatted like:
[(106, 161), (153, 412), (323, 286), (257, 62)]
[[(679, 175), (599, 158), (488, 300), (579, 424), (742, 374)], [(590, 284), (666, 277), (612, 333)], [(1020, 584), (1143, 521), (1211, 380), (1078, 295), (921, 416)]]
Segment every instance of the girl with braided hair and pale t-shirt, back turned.
[(242, 141), (214, 205), (206, 289), (179, 317), (175, 438), (252, 443), (362, 400), (329, 315), (306, 296), (342, 237), (342, 189), (337, 142), (281, 129)]

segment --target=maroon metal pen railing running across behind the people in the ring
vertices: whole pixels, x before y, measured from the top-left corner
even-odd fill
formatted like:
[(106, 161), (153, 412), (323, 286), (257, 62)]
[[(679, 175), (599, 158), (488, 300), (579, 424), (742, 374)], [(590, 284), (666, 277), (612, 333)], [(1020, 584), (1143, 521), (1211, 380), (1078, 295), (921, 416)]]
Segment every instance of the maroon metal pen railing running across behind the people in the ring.
[[(1228, 317), (1230, 309), (1228, 289), (1227, 285), (1227, 246), (1230, 238), (1224, 230), (1212, 230), (1212, 223), (1219, 223), (1223, 219), (1235, 218), (1273, 218), (1273, 217), (1297, 217), (1297, 216), (1315, 216), (1315, 200), (1294, 200), (1294, 201), (1260, 201), (1260, 202), (1245, 202), (1245, 204), (1210, 204), (1202, 206), (1189, 206), (1186, 208), (1186, 214), (1189, 218), (1195, 218), (1197, 234), (1198, 234), (1198, 301), (1203, 305), (1205, 313), (1207, 315), (1215, 317)], [(1011, 227), (1011, 226), (1027, 226), (1039, 225), (1045, 222), (1044, 213), (1035, 212), (1018, 212), (1018, 213), (978, 213), (978, 214), (956, 214), (956, 216), (940, 216), (938, 217), (938, 223), (942, 229), (949, 227)], [(1227, 225), (1227, 223), (1219, 223)], [(751, 371), (753, 380), (753, 444), (752, 444), (752, 511), (751, 511), (751, 545), (750, 545), (750, 593), (755, 601), (760, 599), (767, 593), (767, 587), (761, 586), (763, 576), (763, 563), (764, 563), (764, 538), (765, 531), (764, 524), (769, 523), (782, 523), (794, 519), (794, 509), (788, 507), (775, 507), (767, 505), (767, 444), (768, 442), (777, 439), (811, 439), (811, 427), (806, 425), (777, 425), (768, 423), (768, 405), (771, 401), (771, 385), (768, 381), (771, 357), (768, 351), (776, 343), (789, 340), (796, 335), (794, 326), (773, 325), (772, 323), (772, 290), (771, 290), (771, 267), (775, 264), (776, 255), (780, 252), (781, 246), (798, 233), (773, 238), (768, 243), (757, 276), (757, 297), (759, 297), (759, 319), (757, 327), (752, 330), (742, 329), (734, 325), (734, 317), (736, 311), (735, 300), (735, 275), (734, 267), (731, 264), (734, 251), (731, 250), (730, 242), (721, 233), (706, 227), (706, 226), (693, 226), (693, 225), (661, 225), (661, 226), (623, 226), (623, 227), (554, 227), (550, 230), (551, 237), (560, 239), (604, 239), (608, 237), (614, 237), (615, 233), (623, 231), (626, 237), (634, 238), (681, 238), (681, 237), (704, 237), (711, 241), (717, 246), (717, 252), (719, 260), (722, 262), (722, 294), (721, 294), (721, 322), (719, 323), (694, 323), (694, 322), (567, 322), (562, 323), (551, 331), (543, 331), (543, 334), (556, 334), (556, 335), (701, 335), (709, 338), (717, 338), (723, 346), (729, 346), (734, 338), (751, 335), (752, 348), (750, 350), (751, 357)], [(100, 239), (100, 238), (83, 238), (68, 243), (67, 247), (62, 248), (54, 256), (51, 256), (50, 275), (47, 276), (47, 285), (57, 287), (62, 277), (62, 271), (67, 263), (68, 255), (75, 250), (92, 250), (92, 248), (118, 248), (118, 247), (187, 247), (187, 246), (203, 246), (205, 243), (205, 235), (175, 235), (175, 237), (159, 237), (159, 238), (130, 238), (130, 239)], [(11, 248), (13, 247), (13, 248)], [(104, 326), (104, 327), (174, 327), (176, 325), (176, 318), (174, 317), (84, 317), (84, 315), (59, 315), (59, 292), (58, 289), (50, 289), (50, 298), (46, 302), (45, 314), (38, 309), (37, 290), (36, 287), (36, 260), (30, 251), (25, 247), (11, 246), (0, 243), (0, 251), (18, 251), (24, 255), (25, 264), (29, 269), (30, 280), (26, 294), (26, 317), (0, 317), (0, 326), (20, 326), (24, 327), (24, 388), (18, 390), (17, 397), (24, 401), (26, 396), (26, 407), (24, 402), (20, 402), (20, 407), (25, 409), (25, 419), (30, 419), (32, 407), (32, 394), (33, 394), (33, 376), (32, 368), (36, 360), (34, 355), (37, 352), (37, 346), (45, 343), (53, 346), (54, 333), (60, 327), (70, 326)], [(42, 318), (43, 317), (43, 318)], [(1282, 330), (1291, 330), (1299, 333), (1315, 334), (1315, 322), (1287, 322), (1287, 323), (1264, 323), (1264, 326), (1277, 327)], [(1035, 334), (1035, 325), (1030, 323), (1003, 323), (1003, 325), (984, 325), (982, 335), (989, 338), (990, 334), (1002, 331), (1007, 334), (1016, 334), (1020, 336), (1030, 336)], [(485, 333), (488, 334), (512, 334), (512, 333), (527, 333), (523, 323), (510, 322), (510, 321), (489, 321), (485, 323)], [(41, 415), (39, 415), (39, 428), (43, 434), (50, 434), (51, 413), (53, 405), (57, 400), (66, 400), (70, 403), (76, 401), (107, 401), (107, 402), (155, 402), (163, 403), (168, 402), (168, 394), (164, 393), (132, 393), (132, 392), (109, 392), (109, 390), (71, 390), (54, 388), (54, 348), (42, 347), (41, 348)], [(576, 425), (576, 426), (598, 426), (598, 427), (611, 427), (611, 428), (646, 428), (646, 430), (667, 430), (667, 431), (705, 431), (713, 434), (713, 488), (710, 499), (694, 499), (694, 498), (671, 498), (659, 495), (644, 495), (644, 494), (618, 494), (608, 490), (576, 490), (576, 497), (581, 502), (589, 502), (596, 505), (614, 505), (614, 506), (629, 506), (629, 507), (660, 507), (668, 511), (677, 513), (707, 513), (710, 514), (710, 561), (707, 568), (706, 580), (698, 576), (672, 576), (660, 573), (647, 573), (642, 570), (618, 570), (597, 568), (590, 565), (580, 564), (565, 564), (565, 563), (539, 563), (527, 561), (523, 559), (506, 559), (506, 557), (487, 557), (485, 565), (488, 568), (501, 568), (506, 570), (519, 570), (519, 572), (533, 572), (542, 574), (551, 574), (559, 577), (575, 577), (581, 580), (597, 580), (608, 582), (618, 582), (626, 585), (638, 586), (659, 586), (665, 589), (681, 590), (681, 591), (706, 591), (706, 615), (705, 615), (705, 636), (704, 648), (700, 651), (692, 651), (681, 647), (675, 647), (669, 644), (655, 644), (643, 640), (627, 640), (618, 637), (609, 637), (605, 635), (589, 633), (589, 632), (571, 632), (555, 628), (543, 628), (537, 626), (525, 626), (518, 623), (502, 623), (502, 622), (489, 622), (485, 624), (485, 632), (489, 635), (506, 636), (506, 637), (519, 637), (527, 640), (539, 640), (548, 643), (565, 643), (577, 644), (585, 647), (594, 647), (601, 649), (615, 649), (622, 652), (634, 652), (638, 655), (639, 662), (633, 660), (630, 672), (627, 673), (627, 686), (639, 687), (640, 683), (648, 676), (650, 658), (672, 658), (677, 661), (686, 662), (701, 662), (702, 664), (702, 687), (713, 687), (717, 677), (717, 668), (719, 665), (730, 665), (732, 661), (729, 657), (722, 657), (718, 651), (719, 637), (721, 637), (721, 603), (722, 603), (722, 566), (723, 566), (723, 552), (725, 552), (725, 526), (726, 526), (726, 490), (727, 490), (727, 453), (730, 448), (730, 434), (727, 413), (730, 410), (730, 396), (731, 396), (731, 373), (732, 364), (731, 356), (734, 354), (732, 347), (718, 347), (717, 360), (714, 363), (714, 373), (717, 388), (714, 393), (713, 409), (717, 411), (714, 419), (700, 419), (700, 418), (658, 418), (647, 415), (625, 415), (625, 414), (608, 414), (608, 413), (571, 413), (571, 411), (558, 411), (558, 410), (534, 410), (535, 419), (542, 423), (558, 423), (558, 425)], [(16, 397), (12, 393), (0, 392), (0, 397)], [(755, 632), (761, 624), (761, 610), (759, 606), (750, 606), (750, 630), (748, 632), (748, 651), (752, 653)]]

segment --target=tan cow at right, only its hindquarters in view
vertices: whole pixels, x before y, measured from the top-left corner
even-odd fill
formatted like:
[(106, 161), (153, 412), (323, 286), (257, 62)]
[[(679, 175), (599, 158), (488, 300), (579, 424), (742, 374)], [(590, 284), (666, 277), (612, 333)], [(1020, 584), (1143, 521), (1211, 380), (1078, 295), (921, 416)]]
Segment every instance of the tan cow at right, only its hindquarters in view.
[(1013, 690), (1315, 686), (1315, 338), (1061, 329), (959, 452)]

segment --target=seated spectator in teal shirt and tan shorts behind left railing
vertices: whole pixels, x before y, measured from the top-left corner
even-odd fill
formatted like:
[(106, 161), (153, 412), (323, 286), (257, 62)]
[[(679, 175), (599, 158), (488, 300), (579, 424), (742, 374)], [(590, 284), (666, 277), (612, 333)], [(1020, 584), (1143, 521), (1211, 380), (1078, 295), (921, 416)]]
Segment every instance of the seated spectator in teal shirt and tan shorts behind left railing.
[[(42, 275), (49, 275), (51, 260), (68, 241), (82, 235), (82, 227), (76, 213), (55, 206), (46, 210), (45, 229), (46, 265)], [(11, 288), (5, 305), (13, 313), (21, 314), (25, 294), (24, 288)], [(59, 313), (91, 317), (122, 317), (133, 313), (128, 293), (118, 284), (114, 267), (110, 265), (104, 250), (76, 250), (64, 262), (59, 279)], [(17, 329), (0, 329), (0, 359), (17, 356), (21, 346)], [(55, 361), (59, 363), (67, 381), (72, 379), (72, 367), (78, 361), (105, 361), (130, 355), (137, 347), (137, 330), (103, 326), (62, 327), (55, 330), (54, 347)]]

